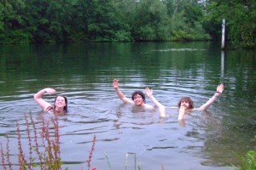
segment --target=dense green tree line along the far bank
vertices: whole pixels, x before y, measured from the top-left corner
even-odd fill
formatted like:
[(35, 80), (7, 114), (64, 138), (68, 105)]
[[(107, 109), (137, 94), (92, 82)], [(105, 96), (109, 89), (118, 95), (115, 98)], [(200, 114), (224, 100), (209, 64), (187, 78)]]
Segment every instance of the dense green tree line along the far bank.
[(0, 0), (0, 43), (228, 40), (256, 47), (254, 0)]

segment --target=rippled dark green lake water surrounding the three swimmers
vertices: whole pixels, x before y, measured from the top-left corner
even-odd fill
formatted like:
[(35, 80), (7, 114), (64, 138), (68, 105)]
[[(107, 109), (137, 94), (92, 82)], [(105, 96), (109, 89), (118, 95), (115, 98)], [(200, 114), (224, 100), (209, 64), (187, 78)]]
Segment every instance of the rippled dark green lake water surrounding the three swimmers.
[[(16, 122), (24, 133), (24, 114), (42, 120), (33, 94), (55, 88), (68, 99), (67, 116), (59, 117), (63, 167), (86, 168), (96, 135), (92, 166), (134, 169), (229, 169), (236, 153), (256, 148), (256, 52), (227, 49), (218, 42), (73, 43), (0, 46), (0, 141), (9, 134), (17, 160)], [(134, 111), (112, 88), (113, 78), (127, 96), (146, 86), (163, 105), (176, 106), (190, 96), (199, 107), (214, 94), (224, 94), (207, 113), (195, 112), (185, 127), (177, 111)], [(54, 96), (44, 99), (53, 103)], [(148, 104), (149, 99), (146, 99)], [(45, 115), (44, 115), (45, 116)]]

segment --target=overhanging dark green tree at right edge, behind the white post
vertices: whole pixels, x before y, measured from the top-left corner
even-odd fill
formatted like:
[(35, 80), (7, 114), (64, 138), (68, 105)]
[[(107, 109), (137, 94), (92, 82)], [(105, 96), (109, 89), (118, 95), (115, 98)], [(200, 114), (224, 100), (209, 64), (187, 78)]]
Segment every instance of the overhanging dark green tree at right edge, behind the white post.
[[(241, 42), (246, 48), (256, 47), (256, 3), (253, 0), (209, 0), (205, 21), (207, 31), (210, 26), (221, 26), (226, 20), (228, 37), (234, 44)], [(209, 26), (209, 23), (211, 24)], [(218, 36), (219, 37), (219, 36)]]

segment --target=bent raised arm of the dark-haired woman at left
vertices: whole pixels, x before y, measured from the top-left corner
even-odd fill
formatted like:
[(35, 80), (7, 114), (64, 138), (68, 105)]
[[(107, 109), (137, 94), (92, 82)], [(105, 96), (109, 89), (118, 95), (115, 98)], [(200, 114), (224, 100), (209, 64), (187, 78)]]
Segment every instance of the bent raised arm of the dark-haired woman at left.
[(44, 94), (55, 94), (55, 89), (53, 88), (44, 88), (40, 90), (37, 94), (34, 95), (34, 99), (40, 105), (40, 107), (45, 111), (49, 106), (51, 106), (48, 102), (46, 102), (42, 97)]

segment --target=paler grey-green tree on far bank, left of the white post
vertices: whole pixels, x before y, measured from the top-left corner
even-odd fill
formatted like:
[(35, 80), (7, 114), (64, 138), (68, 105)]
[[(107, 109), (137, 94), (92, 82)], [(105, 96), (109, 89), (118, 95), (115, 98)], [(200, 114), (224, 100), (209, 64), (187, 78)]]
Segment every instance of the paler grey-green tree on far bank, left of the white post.
[(201, 3), (190, 0), (176, 0), (168, 3), (171, 15), (172, 40), (207, 40), (210, 36), (202, 26), (203, 10)]

